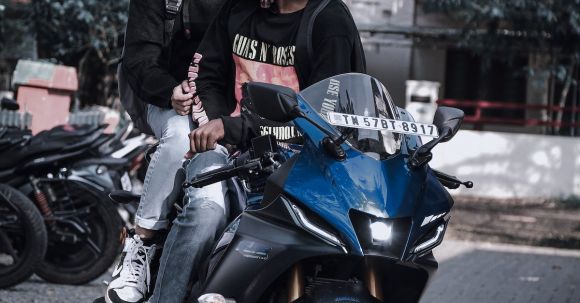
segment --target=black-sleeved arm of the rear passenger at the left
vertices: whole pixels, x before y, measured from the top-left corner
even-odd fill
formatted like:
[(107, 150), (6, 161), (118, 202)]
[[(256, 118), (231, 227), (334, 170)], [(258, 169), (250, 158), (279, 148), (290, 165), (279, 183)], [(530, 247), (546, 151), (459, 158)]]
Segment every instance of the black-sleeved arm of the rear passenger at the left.
[(173, 78), (161, 64), (164, 13), (163, 0), (130, 1), (122, 67), (140, 99), (169, 108), (181, 79)]

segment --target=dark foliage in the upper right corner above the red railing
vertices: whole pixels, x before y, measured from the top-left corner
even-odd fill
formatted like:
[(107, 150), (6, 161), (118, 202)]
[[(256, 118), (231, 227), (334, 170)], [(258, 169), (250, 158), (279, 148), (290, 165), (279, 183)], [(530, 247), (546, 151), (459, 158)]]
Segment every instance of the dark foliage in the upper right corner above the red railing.
[[(445, 14), (463, 24), (454, 41), (459, 47), (504, 60), (529, 54), (548, 58), (548, 63), (528, 72), (547, 73), (560, 82), (560, 93), (551, 94), (548, 103), (565, 107), (569, 92), (578, 85), (574, 75), (580, 63), (580, 0), (421, 0), (421, 4), (426, 13)], [(560, 111), (555, 121), (562, 119)], [(553, 132), (559, 133), (560, 127)]]

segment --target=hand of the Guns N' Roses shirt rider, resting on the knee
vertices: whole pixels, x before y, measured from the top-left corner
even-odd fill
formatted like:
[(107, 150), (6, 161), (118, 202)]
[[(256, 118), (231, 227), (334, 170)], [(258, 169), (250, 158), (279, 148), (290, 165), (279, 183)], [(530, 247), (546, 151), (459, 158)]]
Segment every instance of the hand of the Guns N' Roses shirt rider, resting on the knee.
[(215, 119), (194, 129), (189, 134), (189, 146), (191, 148), (188, 156), (194, 153), (215, 149), (217, 141), (224, 138), (224, 123), (222, 119)]

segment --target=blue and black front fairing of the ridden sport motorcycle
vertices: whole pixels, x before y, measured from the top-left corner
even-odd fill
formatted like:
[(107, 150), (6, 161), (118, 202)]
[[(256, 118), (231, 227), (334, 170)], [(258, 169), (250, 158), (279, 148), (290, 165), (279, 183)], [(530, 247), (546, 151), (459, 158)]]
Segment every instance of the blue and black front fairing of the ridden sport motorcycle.
[[(320, 107), (314, 108), (316, 104), (306, 99), (324, 100), (331, 84), (350, 83), (352, 92), (361, 82), (373, 81), (378, 83), (372, 84), (373, 93), (386, 93), (382, 84), (367, 75), (345, 74), (323, 80), (308, 89), (316, 91), (318, 97), (307, 91), (298, 96), (299, 108), (311, 120), (340, 135), (320, 115)], [(338, 89), (346, 93), (346, 86)], [(412, 119), (394, 107), (392, 101), (388, 105), (392, 118)], [(244, 212), (224, 233), (212, 253), (204, 293), (221, 293), (237, 302), (256, 302), (269, 283), (300, 260), (375, 256), (424, 272), (416, 287), (420, 297), (437, 262), (430, 247), (419, 252), (414, 249), (434, 226), (446, 224), (453, 203), (427, 166), (408, 168), (411, 149), (420, 141), (401, 135), (399, 145), (389, 145), (397, 148), (382, 154), (363, 152), (349, 141), (341, 145), (346, 159), (338, 161), (322, 148), (321, 141), (326, 137), (322, 131), (304, 118), (295, 119), (294, 124), (305, 138), (302, 150), (269, 178), (264, 207)], [(356, 136), (360, 138), (361, 133)], [(305, 232), (304, 224), (296, 218), (300, 215), (330, 236)], [(369, 225), (375, 221), (393, 223), (390, 242), (377, 244), (368, 239)], [(339, 244), (332, 241), (332, 236)], [(248, 281), (252, 283), (247, 285)]]

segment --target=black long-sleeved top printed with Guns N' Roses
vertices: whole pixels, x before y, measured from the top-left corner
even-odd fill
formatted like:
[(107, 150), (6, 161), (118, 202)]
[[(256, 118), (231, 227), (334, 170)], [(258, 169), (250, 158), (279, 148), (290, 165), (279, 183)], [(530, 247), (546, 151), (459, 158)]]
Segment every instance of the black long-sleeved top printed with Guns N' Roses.
[(296, 136), (286, 126), (258, 125), (250, 111), (240, 111), (240, 87), (259, 81), (298, 91), (330, 76), (365, 71), (362, 44), (348, 9), (341, 0), (322, 3), (309, 0), (302, 11), (277, 14), (275, 8), (260, 8), (256, 0), (227, 1), (189, 67), (196, 94), (193, 118), (200, 123), (221, 118), (222, 143), (241, 148), (264, 133)]

